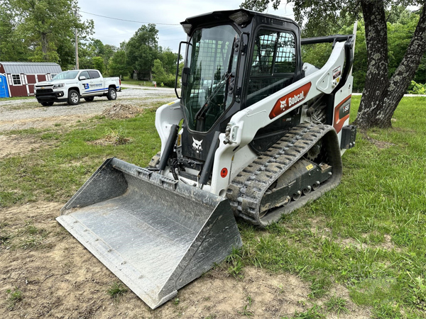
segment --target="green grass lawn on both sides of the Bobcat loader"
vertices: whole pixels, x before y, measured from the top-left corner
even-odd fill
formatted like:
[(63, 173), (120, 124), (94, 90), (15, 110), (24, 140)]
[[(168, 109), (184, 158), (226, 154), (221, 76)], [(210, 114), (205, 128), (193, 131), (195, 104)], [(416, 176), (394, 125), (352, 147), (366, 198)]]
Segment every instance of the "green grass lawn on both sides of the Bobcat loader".
[[(351, 121), (360, 98), (352, 98)], [(152, 109), (127, 120), (11, 132), (55, 146), (0, 162), (0, 209), (65, 203), (108, 157), (146, 166), (160, 148), (154, 119)], [(426, 98), (404, 98), (394, 119), (393, 128), (358, 133), (337, 189), (266, 230), (239, 220), (244, 247), (219, 267), (237, 278), (247, 265), (300, 276), (310, 284), (312, 308), (294, 318), (343, 313), (346, 300), (332, 294), (335, 286), (373, 318), (426, 318)], [(111, 131), (133, 140), (88, 143)], [(318, 306), (319, 298), (327, 302)]]

